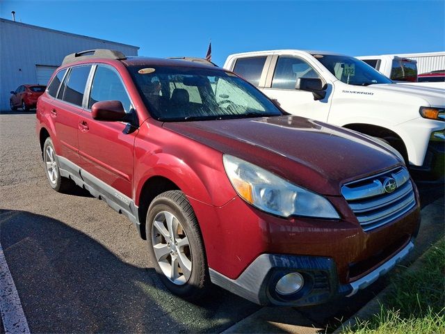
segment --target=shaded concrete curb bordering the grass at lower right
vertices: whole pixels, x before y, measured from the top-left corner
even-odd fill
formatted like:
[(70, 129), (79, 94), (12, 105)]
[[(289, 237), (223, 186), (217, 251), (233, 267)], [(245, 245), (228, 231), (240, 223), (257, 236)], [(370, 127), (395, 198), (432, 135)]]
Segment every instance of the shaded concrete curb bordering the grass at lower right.
[[(423, 208), (421, 215), (421, 229), (419, 230), (419, 239), (421, 239), (418, 244), (416, 241), (416, 248), (414, 253), (410, 254), (403, 263), (407, 261), (414, 261), (414, 263), (410, 264), (404, 272), (409, 273), (415, 271), (417, 267), (421, 264), (421, 260), (424, 257), (425, 251), (438, 241), (444, 235), (444, 198), (439, 198), (435, 202), (432, 202), (430, 205), (427, 205)], [(442, 218), (441, 218), (442, 217)], [(439, 218), (438, 221), (435, 218)], [(442, 225), (442, 227), (440, 226)], [(430, 230), (437, 230), (436, 232), (431, 232)], [(359, 319), (369, 319), (373, 315), (380, 312), (380, 308), (382, 305), (382, 301), (385, 300), (385, 296), (389, 294), (392, 290), (391, 285), (388, 285), (383, 289), (377, 296), (375, 296), (371, 301), (366, 303), (360, 310), (358, 310), (355, 315), (350, 317), (348, 320), (344, 321), (332, 334), (339, 334), (344, 329), (348, 328), (348, 326), (354, 326), (357, 324), (357, 318)]]

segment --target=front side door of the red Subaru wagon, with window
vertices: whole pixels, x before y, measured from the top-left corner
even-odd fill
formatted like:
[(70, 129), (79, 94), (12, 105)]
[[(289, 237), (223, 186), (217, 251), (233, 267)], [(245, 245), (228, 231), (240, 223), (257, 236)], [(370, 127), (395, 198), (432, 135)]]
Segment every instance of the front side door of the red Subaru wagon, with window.
[[(135, 112), (119, 72), (110, 65), (97, 65), (86, 101), (87, 108), (79, 118), (81, 166), (93, 177), (119, 191), (120, 193), (116, 193), (113, 189), (108, 189), (113, 192), (110, 198), (125, 207), (133, 197), (133, 145), (138, 130), (129, 131), (129, 124), (125, 122), (94, 120), (91, 117), (92, 105), (107, 100), (118, 100), (127, 113)], [(83, 177), (88, 178), (89, 175)], [(88, 183), (97, 184), (95, 178)], [(106, 188), (104, 184), (97, 186), (102, 190)]]

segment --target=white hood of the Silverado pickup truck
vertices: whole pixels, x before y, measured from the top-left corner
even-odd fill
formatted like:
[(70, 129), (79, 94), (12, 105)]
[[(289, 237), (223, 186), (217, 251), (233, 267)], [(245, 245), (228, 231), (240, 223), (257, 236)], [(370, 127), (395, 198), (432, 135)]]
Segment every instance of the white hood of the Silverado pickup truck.
[(445, 105), (445, 89), (430, 88), (425, 86), (414, 86), (410, 84), (376, 84), (367, 86), (375, 93), (387, 92), (400, 95), (404, 97), (418, 97), (426, 101), (424, 106), (444, 106)]

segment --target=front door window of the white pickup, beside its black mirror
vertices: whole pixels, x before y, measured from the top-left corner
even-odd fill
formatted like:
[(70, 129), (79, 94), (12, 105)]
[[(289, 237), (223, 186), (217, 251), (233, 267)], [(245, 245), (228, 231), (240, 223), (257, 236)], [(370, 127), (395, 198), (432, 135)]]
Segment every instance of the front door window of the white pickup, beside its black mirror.
[(298, 78), (318, 79), (311, 65), (300, 58), (280, 56), (272, 79), (272, 88), (295, 89)]

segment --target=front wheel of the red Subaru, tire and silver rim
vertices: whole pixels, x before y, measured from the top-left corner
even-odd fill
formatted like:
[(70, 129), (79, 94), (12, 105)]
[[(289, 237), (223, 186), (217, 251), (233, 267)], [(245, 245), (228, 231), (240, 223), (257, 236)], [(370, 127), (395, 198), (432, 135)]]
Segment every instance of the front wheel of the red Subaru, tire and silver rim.
[(189, 301), (200, 299), (209, 286), (209, 270), (200, 227), (184, 193), (156, 196), (145, 229), (150, 256), (165, 287)]

